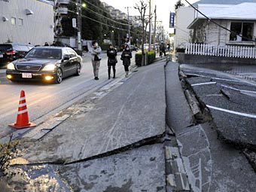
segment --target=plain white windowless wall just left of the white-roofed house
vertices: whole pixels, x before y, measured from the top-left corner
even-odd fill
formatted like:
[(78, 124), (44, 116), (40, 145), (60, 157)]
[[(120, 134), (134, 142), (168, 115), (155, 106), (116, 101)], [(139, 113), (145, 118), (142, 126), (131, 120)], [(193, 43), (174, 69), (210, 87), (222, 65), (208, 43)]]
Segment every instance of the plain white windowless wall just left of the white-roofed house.
[(190, 29), (187, 29), (187, 26), (194, 20), (194, 9), (178, 8), (175, 19), (175, 47), (185, 47), (190, 41)]

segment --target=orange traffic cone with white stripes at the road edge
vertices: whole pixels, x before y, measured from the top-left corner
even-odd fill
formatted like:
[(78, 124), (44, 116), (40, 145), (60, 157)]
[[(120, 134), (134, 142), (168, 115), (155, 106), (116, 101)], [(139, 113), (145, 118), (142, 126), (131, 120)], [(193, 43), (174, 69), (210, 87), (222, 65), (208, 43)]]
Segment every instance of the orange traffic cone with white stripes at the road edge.
[(36, 126), (35, 123), (29, 122), (29, 113), (28, 113), (28, 109), (26, 108), (26, 97), (25, 97), (24, 90), (20, 92), (20, 105), (18, 109), (16, 123), (13, 123), (9, 126), (15, 129), (24, 129), (24, 128)]

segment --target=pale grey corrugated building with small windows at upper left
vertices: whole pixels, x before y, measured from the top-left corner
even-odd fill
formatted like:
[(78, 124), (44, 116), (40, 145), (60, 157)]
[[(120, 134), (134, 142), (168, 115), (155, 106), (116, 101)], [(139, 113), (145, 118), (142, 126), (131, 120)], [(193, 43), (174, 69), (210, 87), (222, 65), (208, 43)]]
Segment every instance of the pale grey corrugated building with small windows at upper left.
[(53, 42), (53, 5), (37, 0), (0, 0), (0, 43)]

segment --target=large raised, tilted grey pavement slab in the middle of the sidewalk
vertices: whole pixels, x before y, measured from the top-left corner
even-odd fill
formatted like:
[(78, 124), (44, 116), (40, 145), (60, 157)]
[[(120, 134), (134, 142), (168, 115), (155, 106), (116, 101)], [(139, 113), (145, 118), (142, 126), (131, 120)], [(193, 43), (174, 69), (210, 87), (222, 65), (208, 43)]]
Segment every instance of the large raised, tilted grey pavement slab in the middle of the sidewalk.
[(29, 163), (70, 163), (162, 136), (166, 129), (163, 65), (139, 69), (86, 115), (70, 117), (35, 142), (24, 158)]

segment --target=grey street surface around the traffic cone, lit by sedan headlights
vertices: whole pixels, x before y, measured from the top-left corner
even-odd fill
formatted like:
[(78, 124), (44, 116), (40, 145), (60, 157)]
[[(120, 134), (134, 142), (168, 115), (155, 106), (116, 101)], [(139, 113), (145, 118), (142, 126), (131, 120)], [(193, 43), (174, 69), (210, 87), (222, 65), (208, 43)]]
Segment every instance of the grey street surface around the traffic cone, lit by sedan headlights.
[[(26, 92), (29, 120), (34, 123), (41, 123), (50, 115), (77, 102), (84, 94), (113, 81), (113, 79), (108, 80), (107, 57), (104, 53), (102, 55), (99, 81), (94, 80), (93, 67), (88, 54), (83, 57), (81, 75), (66, 78), (61, 84), (12, 83), (5, 79), (4, 73), (0, 73), (0, 139), (15, 131), (8, 127), (8, 124), (14, 123), (16, 120), (20, 90)], [(124, 70), (120, 54), (117, 59), (116, 77), (123, 78)]]

